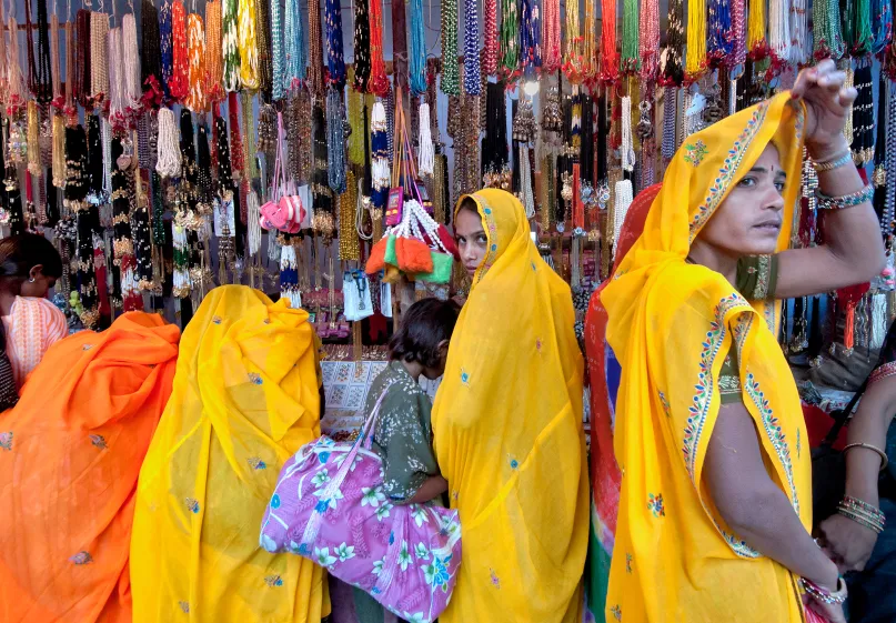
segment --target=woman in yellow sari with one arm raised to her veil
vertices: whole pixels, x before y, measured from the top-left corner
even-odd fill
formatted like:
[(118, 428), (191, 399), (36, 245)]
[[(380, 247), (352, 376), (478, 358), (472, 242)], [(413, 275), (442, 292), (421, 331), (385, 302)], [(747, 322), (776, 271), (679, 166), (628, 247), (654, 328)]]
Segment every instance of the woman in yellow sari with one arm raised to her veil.
[[(622, 365), (610, 621), (796, 623), (804, 599), (844, 621), (839, 603), (825, 602), (842, 602), (845, 585), (808, 532), (808, 438), (776, 340), (779, 304), (748, 302), (732, 285), (751, 255), (768, 260), (758, 274), (776, 283), (762, 290), (778, 297), (866, 281), (883, 267), (843, 139), (856, 97), (844, 79), (825, 61), (792, 93), (688, 137), (601, 294)], [(839, 233), (784, 251), (804, 140), (819, 191), (840, 204), (825, 217)]]

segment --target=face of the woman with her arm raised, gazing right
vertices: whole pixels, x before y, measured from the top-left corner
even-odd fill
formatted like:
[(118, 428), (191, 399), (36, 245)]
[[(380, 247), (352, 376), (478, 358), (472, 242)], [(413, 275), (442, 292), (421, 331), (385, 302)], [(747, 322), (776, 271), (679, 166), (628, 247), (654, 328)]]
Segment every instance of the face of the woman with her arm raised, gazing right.
[(701, 230), (698, 240), (729, 255), (774, 253), (784, 217), (786, 182), (778, 150), (769, 143)]

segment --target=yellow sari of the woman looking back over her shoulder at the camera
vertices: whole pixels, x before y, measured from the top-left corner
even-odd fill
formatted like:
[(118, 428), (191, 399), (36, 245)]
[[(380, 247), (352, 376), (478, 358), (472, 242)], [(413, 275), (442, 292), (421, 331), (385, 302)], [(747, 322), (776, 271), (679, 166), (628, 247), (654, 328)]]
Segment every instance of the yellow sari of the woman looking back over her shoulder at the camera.
[(463, 562), (440, 623), (582, 620), (588, 475), (570, 288), (520, 202), (471, 195), (489, 238), (432, 422)]

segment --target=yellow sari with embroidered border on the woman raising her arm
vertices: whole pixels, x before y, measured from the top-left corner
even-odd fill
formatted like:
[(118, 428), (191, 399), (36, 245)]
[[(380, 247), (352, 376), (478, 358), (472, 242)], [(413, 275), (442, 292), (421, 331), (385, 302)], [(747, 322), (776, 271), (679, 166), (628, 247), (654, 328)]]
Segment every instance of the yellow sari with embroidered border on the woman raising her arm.
[(614, 439), (623, 479), (608, 621), (803, 621), (793, 574), (733, 534), (702, 480), (719, 408), (718, 374), (734, 344), (768, 473), (811, 529), (809, 445), (775, 338), (779, 304), (749, 303), (721, 274), (685, 262), (701, 228), (769, 142), (787, 172), (778, 251), (787, 248), (803, 118), (802, 103), (785, 93), (688, 137), (644, 233), (602, 293), (607, 340), (623, 371)]

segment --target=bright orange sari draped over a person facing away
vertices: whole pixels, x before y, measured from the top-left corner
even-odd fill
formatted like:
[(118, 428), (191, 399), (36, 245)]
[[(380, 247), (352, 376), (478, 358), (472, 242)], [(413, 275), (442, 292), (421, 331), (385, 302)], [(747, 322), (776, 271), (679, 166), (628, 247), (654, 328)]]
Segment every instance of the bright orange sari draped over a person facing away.
[(0, 621), (130, 623), (137, 476), (179, 338), (142, 312), (71, 335), (0, 414)]

